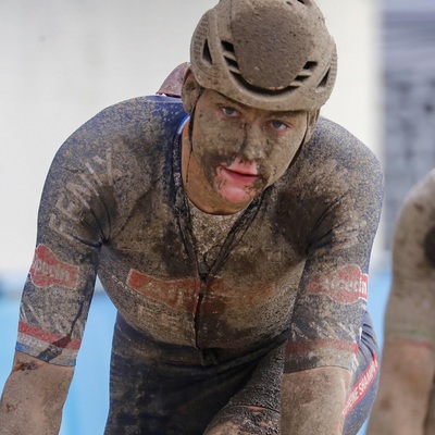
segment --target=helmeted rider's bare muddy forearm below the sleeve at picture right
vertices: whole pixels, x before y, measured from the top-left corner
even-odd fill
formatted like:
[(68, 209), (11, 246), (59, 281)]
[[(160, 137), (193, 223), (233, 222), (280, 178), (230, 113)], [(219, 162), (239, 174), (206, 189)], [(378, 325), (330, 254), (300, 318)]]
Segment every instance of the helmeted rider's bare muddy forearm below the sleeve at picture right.
[(351, 373), (340, 368), (285, 374), (282, 434), (341, 435), (343, 409), (350, 381)]

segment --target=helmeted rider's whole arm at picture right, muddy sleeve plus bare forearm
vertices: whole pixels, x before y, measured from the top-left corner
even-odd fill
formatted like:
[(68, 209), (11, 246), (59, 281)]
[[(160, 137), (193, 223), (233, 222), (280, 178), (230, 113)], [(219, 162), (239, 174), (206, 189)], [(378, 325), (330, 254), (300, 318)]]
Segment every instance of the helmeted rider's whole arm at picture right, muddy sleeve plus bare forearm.
[[(312, 144), (324, 147), (330, 136), (321, 137), (321, 128), (322, 123)], [(333, 149), (335, 140), (330, 144)], [(324, 159), (319, 175), (311, 173), (307, 183), (311, 188), (303, 200), (312, 202), (311, 209), (306, 207), (316, 214), (307, 213), (304, 220), (311, 229), (285, 352), (283, 434), (341, 434), (351, 378), (359, 370), (383, 177), (375, 159), (351, 138), (349, 144), (355, 153), (337, 150), (336, 160)], [(358, 424), (365, 418), (366, 412), (359, 413)]]

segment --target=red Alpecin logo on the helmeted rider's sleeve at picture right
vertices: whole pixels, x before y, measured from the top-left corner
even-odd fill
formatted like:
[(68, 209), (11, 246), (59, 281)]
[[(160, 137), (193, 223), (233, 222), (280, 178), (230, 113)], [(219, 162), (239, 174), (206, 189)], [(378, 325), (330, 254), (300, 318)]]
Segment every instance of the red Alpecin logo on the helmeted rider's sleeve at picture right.
[(353, 303), (368, 299), (369, 275), (356, 264), (338, 268), (335, 274), (318, 274), (311, 279), (307, 291), (326, 295), (341, 303)]

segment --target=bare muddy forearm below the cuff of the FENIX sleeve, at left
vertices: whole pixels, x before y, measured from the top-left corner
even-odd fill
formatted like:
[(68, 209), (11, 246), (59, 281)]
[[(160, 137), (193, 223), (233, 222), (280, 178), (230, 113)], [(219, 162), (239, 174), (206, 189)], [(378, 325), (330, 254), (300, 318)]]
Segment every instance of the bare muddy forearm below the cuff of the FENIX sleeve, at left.
[(0, 434), (58, 434), (73, 373), (16, 351), (0, 401)]

